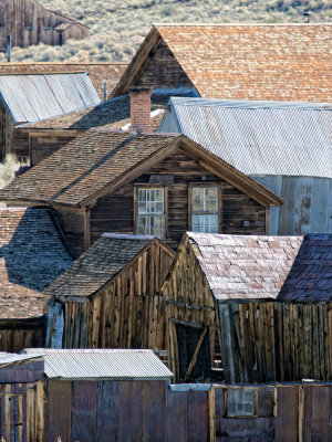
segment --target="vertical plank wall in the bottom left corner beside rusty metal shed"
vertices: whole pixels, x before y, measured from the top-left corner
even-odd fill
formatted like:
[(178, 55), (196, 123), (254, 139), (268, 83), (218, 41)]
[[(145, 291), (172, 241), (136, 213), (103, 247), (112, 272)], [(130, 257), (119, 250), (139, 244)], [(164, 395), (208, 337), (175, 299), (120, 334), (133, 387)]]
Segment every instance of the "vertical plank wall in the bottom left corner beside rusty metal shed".
[(43, 442), (44, 382), (0, 383), (0, 436), (7, 442)]

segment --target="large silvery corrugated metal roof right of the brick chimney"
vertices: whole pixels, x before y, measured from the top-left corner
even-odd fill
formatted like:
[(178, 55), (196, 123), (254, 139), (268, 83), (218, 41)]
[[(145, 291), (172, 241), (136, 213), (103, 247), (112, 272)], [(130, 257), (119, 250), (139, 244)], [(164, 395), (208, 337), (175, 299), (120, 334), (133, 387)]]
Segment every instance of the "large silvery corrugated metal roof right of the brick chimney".
[(160, 131), (181, 131), (241, 172), (332, 178), (332, 105), (169, 101)]

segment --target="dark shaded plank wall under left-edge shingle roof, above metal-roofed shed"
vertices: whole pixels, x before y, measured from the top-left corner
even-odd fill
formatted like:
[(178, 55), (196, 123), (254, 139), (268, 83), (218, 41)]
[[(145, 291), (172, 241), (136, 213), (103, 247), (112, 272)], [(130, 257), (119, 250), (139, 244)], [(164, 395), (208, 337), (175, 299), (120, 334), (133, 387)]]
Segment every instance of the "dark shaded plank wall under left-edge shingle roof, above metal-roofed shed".
[(45, 343), (44, 319), (0, 320), (0, 351), (20, 352), (23, 348), (43, 347)]

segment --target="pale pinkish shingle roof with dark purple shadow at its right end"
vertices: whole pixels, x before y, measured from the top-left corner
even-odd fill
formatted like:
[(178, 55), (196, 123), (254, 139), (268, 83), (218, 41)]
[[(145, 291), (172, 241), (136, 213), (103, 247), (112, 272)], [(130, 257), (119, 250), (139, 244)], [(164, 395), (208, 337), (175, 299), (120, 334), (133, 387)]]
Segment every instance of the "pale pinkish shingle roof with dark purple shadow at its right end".
[(332, 299), (332, 234), (187, 235), (218, 301)]

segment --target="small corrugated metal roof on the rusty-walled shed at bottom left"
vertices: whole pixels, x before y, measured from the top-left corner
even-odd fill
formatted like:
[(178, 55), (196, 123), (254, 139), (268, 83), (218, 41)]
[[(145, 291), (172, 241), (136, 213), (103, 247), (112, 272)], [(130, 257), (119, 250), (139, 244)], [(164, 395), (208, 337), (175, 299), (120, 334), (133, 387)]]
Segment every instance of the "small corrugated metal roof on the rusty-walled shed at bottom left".
[(22, 351), (44, 355), (48, 378), (169, 379), (173, 376), (153, 350), (25, 348)]

